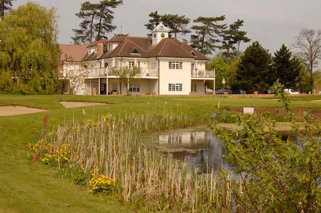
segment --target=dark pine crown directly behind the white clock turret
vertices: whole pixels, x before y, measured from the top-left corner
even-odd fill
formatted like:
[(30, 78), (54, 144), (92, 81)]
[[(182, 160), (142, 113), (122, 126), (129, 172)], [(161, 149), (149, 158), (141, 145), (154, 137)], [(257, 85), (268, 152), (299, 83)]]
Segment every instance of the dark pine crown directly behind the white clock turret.
[[(159, 18), (162, 18), (164, 25), (170, 28), (170, 34), (177, 38), (178, 34), (187, 34), (191, 32), (190, 29), (187, 29), (187, 24), (191, 21), (190, 18), (185, 17), (185, 15), (178, 14), (164, 14), (159, 15), (157, 10), (149, 13), (148, 23), (144, 24), (144, 26), (152, 31), (157, 24), (159, 23)], [(151, 33), (148, 33), (147, 36), (151, 37)]]

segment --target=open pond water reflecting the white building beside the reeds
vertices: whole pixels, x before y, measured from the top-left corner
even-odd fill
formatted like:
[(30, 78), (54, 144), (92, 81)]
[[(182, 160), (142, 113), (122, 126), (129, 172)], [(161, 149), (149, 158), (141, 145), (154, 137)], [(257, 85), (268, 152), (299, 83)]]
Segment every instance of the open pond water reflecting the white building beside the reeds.
[(224, 170), (235, 171), (235, 165), (223, 159), (228, 151), (222, 141), (208, 128), (186, 128), (150, 136), (157, 151), (171, 153), (178, 160), (186, 160), (189, 169), (198, 168), (206, 172), (213, 168), (217, 173)]

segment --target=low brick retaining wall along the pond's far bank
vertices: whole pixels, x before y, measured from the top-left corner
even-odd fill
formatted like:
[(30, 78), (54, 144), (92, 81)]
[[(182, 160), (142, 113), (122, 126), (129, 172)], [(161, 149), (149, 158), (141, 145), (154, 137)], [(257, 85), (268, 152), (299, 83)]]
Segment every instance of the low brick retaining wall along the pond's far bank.
[[(228, 109), (231, 111), (236, 112), (243, 112), (243, 106), (223, 106), (222, 108)], [(291, 110), (294, 112), (294, 115), (296, 117), (296, 121), (303, 121), (304, 120), (304, 111), (309, 112), (310, 114), (314, 115), (314, 121), (321, 121), (321, 108), (291, 108)], [(270, 112), (273, 115), (276, 116), (286, 116), (287, 112), (284, 111), (281, 107), (263, 107), (263, 106), (255, 106), (254, 112), (257, 114), (263, 114), (264, 112)]]

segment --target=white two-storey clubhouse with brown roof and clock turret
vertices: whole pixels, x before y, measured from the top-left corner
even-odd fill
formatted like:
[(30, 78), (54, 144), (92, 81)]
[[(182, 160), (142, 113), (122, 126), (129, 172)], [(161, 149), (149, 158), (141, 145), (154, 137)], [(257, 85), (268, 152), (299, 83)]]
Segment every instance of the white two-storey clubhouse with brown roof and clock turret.
[(204, 95), (205, 80), (215, 79), (214, 71), (206, 70), (209, 59), (187, 43), (169, 38), (169, 31), (160, 22), (151, 38), (116, 35), (89, 45), (61, 44), (62, 55), (73, 58), (70, 62), (62, 56), (61, 69), (68, 72), (72, 66), (76, 73), (86, 75), (70, 92), (126, 94), (125, 85), (108, 70), (138, 66), (141, 74), (129, 85), (131, 94)]

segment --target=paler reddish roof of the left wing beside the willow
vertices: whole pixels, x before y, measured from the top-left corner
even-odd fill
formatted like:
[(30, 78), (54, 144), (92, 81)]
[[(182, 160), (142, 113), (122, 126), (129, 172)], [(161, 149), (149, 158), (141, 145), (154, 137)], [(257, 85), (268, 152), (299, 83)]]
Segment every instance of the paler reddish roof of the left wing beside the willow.
[(68, 57), (72, 57), (74, 61), (81, 61), (88, 52), (87, 45), (88, 44), (59, 44), (60, 60), (66, 60), (66, 54)]

